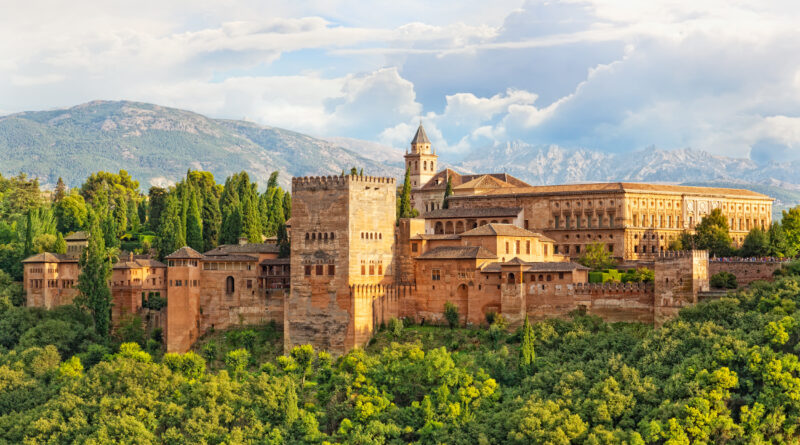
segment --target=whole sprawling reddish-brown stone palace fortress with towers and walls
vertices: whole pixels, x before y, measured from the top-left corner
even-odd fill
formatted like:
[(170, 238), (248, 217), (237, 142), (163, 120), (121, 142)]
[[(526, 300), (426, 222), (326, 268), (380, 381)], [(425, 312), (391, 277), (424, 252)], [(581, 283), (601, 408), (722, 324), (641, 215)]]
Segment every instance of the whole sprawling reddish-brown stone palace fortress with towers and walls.
[[(461, 320), (489, 312), (513, 326), (583, 309), (610, 321), (661, 324), (708, 291), (709, 275), (733, 272), (740, 284), (768, 278), (773, 263), (709, 261), (705, 251), (670, 252), (669, 243), (720, 208), (734, 242), (771, 224), (772, 198), (747, 190), (607, 183), (530, 186), (507, 174), (437, 171), (420, 125), (405, 156), (418, 218), (396, 225), (398, 184), (367, 176), (292, 180), (290, 258), (275, 244), (184, 247), (166, 264), (127, 257), (113, 267), (112, 320), (139, 314), (163, 328), (166, 349), (183, 352), (210, 329), (275, 321), (284, 344), (334, 353), (365, 345), (392, 317), (441, 323), (445, 302)], [(447, 182), (453, 195), (442, 208)], [(648, 267), (650, 284), (588, 284), (572, 262), (601, 242), (623, 268)], [(75, 297), (78, 232), (68, 251), (24, 261), (28, 305)], [(146, 300), (167, 306), (147, 309)]]

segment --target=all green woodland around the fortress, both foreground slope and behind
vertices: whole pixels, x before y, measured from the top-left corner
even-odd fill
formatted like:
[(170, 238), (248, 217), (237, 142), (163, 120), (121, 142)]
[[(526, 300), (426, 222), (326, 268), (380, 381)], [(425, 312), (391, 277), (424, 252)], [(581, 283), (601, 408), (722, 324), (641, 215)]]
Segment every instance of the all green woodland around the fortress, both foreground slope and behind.
[[(519, 329), (494, 314), (470, 328), (392, 319), (365, 349), (332, 357), (310, 346), (284, 355), (276, 326), (241, 326), (210, 333), (193, 352), (163, 354), (158, 330), (108, 327), (115, 255), (206, 250), (241, 236), (275, 235), (288, 247), (291, 198), (276, 176), (259, 191), (245, 173), (217, 184), (190, 171), (170, 188), (138, 187), (124, 171), (99, 172), (46, 196), (35, 180), (0, 177), (0, 443), (800, 439), (798, 262), (659, 329), (582, 313)], [(399, 214), (410, 212), (405, 195)], [(734, 249), (725, 218), (712, 213), (673, 247), (794, 256), (800, 209), (773, 227)], [(75, 230), (90, 234), (82, 298), (24, 307), (19, 261), (63, 251)]]

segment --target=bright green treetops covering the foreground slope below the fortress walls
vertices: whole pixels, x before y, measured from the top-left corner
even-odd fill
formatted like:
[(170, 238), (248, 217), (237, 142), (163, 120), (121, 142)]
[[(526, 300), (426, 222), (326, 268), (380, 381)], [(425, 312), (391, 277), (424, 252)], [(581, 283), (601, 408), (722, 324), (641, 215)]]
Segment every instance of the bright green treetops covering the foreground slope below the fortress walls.
[(581, 314), (517, 331), (392, 322), (340, 358), (269, 358), (270, 328), (221, 334), (214, 356), (109, 350), (79, 311), (6, 303), (0, 442), (796, 443), (798, 303), (786, 276), (657, 330)]

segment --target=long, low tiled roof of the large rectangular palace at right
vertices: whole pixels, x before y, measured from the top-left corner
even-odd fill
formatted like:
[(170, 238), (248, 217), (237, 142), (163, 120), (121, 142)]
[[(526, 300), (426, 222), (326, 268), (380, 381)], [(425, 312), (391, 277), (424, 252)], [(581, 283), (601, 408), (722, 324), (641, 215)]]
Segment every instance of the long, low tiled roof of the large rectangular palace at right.
[(678, 193), (688, 195), (720, 195), (754, 199), (772, 199), (751, 190), (722, 187), (690, 187), (685, 185), (645, 184), (636, 182), (604, 182), (596, 184), (539, 185), (489, 190), (482, 195), (453, 195), (449, 199), (474, 199), (486, 195), (536, 196), (579, 193)]

